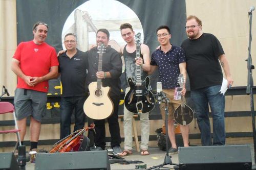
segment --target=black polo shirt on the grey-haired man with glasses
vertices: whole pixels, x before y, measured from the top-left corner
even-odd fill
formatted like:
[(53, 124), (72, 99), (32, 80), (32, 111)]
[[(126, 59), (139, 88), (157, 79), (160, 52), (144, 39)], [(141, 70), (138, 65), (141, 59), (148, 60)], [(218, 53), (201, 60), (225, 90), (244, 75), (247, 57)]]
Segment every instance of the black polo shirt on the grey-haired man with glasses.
[(65, 53), (58, 57), (59, 72), (61, 74), (62, 96), (86, 95), (87, 56), (86, 53), (77, 50), (77, 53), (69, 58)]

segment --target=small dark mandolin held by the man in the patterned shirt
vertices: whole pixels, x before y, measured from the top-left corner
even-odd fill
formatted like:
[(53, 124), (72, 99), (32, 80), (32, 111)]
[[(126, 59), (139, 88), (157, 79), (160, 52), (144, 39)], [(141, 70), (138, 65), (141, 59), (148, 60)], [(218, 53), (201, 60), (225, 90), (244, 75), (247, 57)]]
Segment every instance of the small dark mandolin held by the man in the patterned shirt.
[[(178, 80), (180, 87), (183, 87), (184, 78), (182, 74), (180, 74)], [(180, 125), (188, 125), (194, 118), (194, 112), (190, 107), (186, 105), (183, 95), (181, 96), (181, 105), (174, 111), (174, 118)]]

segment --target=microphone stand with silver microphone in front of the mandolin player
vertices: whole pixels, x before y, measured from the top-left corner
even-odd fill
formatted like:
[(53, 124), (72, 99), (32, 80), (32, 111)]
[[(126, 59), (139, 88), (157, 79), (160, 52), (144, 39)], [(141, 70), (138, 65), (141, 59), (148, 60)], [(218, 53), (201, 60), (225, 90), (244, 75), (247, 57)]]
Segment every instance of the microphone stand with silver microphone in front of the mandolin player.
[[(161, 94), (160, 94), (161, 95)], [(164, 161), (162, 164), (160, 165), (156, 165), (156, 166), (152, 166), (150, 168), (147, 168), (147, 170), (150, 170), (150, 169), (160, 169), (161, 167), (164, 167), (164, 165), (179, 165), (179, 164), (176, 164), (176, 163), (173, 163), (172, 162), (172, 156), (169, 155), (169, 144), (168, 144), (168, 140), (169, 140), (169, 135), (168, 135), (168, 106), (170, 104), (169, 102), (169, 99), (167, 98), (162, 98), (162, 101), (165, 103), (165, 107), (164, 107), (164, 112), (165, 112), (165, 129), (166, 129), (166, 136), (165, 136), (165, 142), (166, 142), (166, 155), (164, 157)], [(165, 167), (165, 168), (168, 168), (168, 167)]]

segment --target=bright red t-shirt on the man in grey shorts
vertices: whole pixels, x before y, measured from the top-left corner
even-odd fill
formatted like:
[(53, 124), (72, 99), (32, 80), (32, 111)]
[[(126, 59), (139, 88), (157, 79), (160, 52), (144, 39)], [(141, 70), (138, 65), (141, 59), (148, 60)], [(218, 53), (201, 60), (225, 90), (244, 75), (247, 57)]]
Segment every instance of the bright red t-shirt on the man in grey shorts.
[[(17, 46), (13, 58), (19, 61), (20, 69), (22, 69), (23, 73), (31, 77), (45, 76), (52, 66), (59, 65), (54, 47), (46, 42), (40, 45), (35, 44), (33, 41), (21, 42)], [(22, 78), (18, 77), (17, 88), (47, 92), (49, 84), (48, 81), (44, 81), (33, 87), (27, 85)]]

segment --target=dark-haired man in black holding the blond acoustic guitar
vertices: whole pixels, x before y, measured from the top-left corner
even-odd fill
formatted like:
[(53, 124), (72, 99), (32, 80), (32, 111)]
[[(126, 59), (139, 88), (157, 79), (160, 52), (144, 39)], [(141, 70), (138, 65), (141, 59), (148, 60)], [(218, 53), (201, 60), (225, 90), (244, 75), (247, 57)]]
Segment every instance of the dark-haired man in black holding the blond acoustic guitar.
[[(86, 79), (86, 87), (92, 82), (97, 82), (97, 79), (102, 79), (102, 86), (111, 87), (110, 98), (114, 104), (114, 111), (111, 116), (107, 118), (109, 123), (109, 130), (111, 135), (111, 147), (114, 154), (121, 153), (120, 143), (120, 129), (118, 123), (118, 106), (120, 100), (121, 86), (119, 77), (122, 74), (121, 57), (114, 48), (108, 45), (110, 33), (106, 29), (99, 29), (96, 34), (97, 46), (104, 44), (105, 52), (102, 56), (102, 71), (98, 71), (99, 54), (97, 47), (93, 47), (86, 52), (88, 56), (88, 77)], [(96, 150), (105, 149), (105, 119), (94, 120), (95, 124), (95, 138), (94, 142)]]

